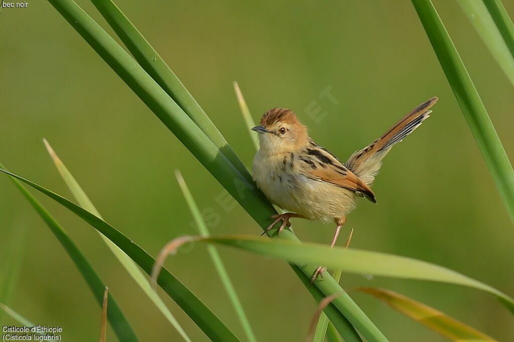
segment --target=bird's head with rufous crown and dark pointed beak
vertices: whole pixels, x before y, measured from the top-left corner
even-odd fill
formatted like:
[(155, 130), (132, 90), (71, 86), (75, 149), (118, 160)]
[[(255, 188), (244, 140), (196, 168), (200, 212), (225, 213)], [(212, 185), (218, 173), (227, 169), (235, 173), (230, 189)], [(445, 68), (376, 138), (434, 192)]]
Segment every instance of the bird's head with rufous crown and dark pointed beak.
[(252, 131), (259, 133), (261, 149), (270, 154), (294, 152), (308, 142), (307, 127), (298, 121), (295, 112), (285, 108), (268, 110), (260, 126)]

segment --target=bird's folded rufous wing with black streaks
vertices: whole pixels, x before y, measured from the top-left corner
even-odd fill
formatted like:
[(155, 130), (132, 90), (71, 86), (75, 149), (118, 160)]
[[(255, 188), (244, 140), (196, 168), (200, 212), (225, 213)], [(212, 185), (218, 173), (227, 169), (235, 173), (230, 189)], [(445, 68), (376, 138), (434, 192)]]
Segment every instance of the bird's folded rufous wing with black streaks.
[(305, 153), (302, 153), (299, 158), (300, 172), (304, 176), (355, 191), (376, 203), (375, 194), (371, 188), (321, 146), (310, 142)]

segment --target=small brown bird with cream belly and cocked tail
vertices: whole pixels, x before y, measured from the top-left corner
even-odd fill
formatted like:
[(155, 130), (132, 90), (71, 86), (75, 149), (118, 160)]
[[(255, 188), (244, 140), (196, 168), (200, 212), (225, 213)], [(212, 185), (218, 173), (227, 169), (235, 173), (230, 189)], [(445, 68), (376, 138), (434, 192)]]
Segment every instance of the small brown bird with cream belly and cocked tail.
[[(267, 111), (260, 126), (252, 128), (259, 133), (260, 142), (253, 159), (253, 180), (273, 204), (289, 212), (273, 215), (265, 233), (282, 220), (279, 235), (291, 226), (289, 219), (293, 217), (325, 223), (334, 220), (334, 247), (346, 215), (355, 209), (357, 197), (377, 203), (370, 186), (382, 158), (429, 117), (436, 102), (437, 97), (432, 97), (414, 108), (373, 143), (354, 152), (346, 163), (316, 144), (292, 110)], [(312, 280), (325, 270), (318, 267)]]

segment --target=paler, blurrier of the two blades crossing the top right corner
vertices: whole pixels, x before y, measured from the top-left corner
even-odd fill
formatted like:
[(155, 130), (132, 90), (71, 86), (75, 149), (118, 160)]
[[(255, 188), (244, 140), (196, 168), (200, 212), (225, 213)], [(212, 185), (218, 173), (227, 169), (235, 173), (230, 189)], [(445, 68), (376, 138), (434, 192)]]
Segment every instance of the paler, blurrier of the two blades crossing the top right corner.
[(464, 13), (479, 33), (492, 56), (514, 85), (514, 56), (510, 53), (502, 34), (482, 1), (458, 0)]

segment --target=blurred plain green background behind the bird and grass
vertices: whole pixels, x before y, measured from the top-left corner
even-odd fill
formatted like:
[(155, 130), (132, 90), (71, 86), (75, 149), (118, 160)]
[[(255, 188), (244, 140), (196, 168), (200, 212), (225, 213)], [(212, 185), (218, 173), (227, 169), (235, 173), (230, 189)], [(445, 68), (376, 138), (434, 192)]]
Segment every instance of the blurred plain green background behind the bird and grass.
[[(79, 4), (108, 28), (92, 5)], [(410, 1), (117, 4), (248, 166), (254, 150), (234, 80), (255, 120), (271, 107), (289, 107), (341, 159), (438, 96), (432, 117), (386, 158), (374, 185), (378, 205), (361, 201), (341, 240), (354, 228), (354, 248), (430, 261), (514, 294), (514, 229)], [(434, 4), (512, 156), (512, 85), (458, 4)], [(504, 5), (514, 16), (514, 3)], [(3, 9), (0, 33), (0, 159), (6, 167), (71, 198), (44, 148), (46, 137), (105, 219), (153, 255), (170, 239), (195, 232), (175, 169), (199, 207), (219, 215), (210, 222), (213, 234), (260, 234), (235, 202), (223, 209), (223, 188), (47, 2)], [(320, 97), (327, 88), (337, 105)], [(319, 123), (308, 115), (313, 106), (326, 112)], [(5, 176), (0, 193), (0, 265), (13, 240), (24, 239), (9, 306), (35, 324), (61, 326), (64, 340), (96, 340), (100, 308), (82, 276)], [(98, 234), (38, 198), (98, 269), (140, 339), (179, 340)], [(308, 241), (328, 243), (333, 234), (332, 225), (296, 220), (293, 226)], [(317, 305), (287, 264), (219, 251), (258, 339), (304, 340)], [(183, 248), (167, 266), (244, 338), (205, 246)], [(0, 279), (10, 276), (2, 271)], [(514, 336), (512, 316), (483, 292), (351, 274), (343, 274), (342, 285), (392, 289), (499, 340)], [(443, 340), (371, 297), (352, 296), (391, 341)], [(207, 340), (163, 298), (194, 341)], [(4, 315), (5, 324), (14, 321)], [(108, 332), (108, 340), (115, 338)]]

